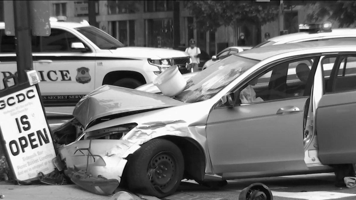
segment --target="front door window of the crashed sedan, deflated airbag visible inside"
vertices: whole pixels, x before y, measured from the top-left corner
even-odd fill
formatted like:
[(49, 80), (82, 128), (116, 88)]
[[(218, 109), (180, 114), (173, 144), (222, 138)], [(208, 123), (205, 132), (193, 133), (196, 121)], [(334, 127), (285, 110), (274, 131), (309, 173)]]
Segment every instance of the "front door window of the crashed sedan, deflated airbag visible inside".
[(314, 61), (314, 57), (289, 61), (258, 75), (240, 90), (241, 104), (308, 96)]

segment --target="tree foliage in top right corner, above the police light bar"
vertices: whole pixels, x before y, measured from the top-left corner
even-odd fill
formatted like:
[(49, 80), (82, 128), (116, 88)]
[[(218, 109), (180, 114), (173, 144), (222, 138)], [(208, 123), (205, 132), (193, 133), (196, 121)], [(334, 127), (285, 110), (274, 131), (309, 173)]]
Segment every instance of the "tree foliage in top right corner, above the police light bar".
[(348, 27), (356, 22), (356, 1), (317, 1), (314, 11), (307, 15), (309, 22), (320, 22), (325, 17), (339, 22), (339, 27)]

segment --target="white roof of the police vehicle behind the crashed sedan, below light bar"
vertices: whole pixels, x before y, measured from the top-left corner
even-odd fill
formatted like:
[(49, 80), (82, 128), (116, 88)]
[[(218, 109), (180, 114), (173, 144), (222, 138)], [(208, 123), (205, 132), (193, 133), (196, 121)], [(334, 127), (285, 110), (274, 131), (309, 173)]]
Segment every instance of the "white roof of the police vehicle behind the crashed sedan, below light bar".
[(268, 41), (286, 43), (286, 42), (310, 39), (316, 37), (346, 36), (346, 35), (355, 35), (356, 37), (356, 28), (336, 28), (336, 29), (332, 29), (330, 32), (321, 32), (321, 33), (308, 33), (308, 32), (290, 33), (282, 36), (272, 37)]

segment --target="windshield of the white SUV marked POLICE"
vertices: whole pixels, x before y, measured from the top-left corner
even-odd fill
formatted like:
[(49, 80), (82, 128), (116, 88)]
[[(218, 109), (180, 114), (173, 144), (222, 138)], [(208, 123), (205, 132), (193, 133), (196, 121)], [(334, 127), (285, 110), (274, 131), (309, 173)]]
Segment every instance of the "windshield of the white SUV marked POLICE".
[(124, 44), (106, 34), (104, 31), (101, 31), (100, 29), (93, 26), (75, 28), (75, 30), (77, 30), (79, 33), (82, 33), (100, 49), (117, 49), (124, 47)]

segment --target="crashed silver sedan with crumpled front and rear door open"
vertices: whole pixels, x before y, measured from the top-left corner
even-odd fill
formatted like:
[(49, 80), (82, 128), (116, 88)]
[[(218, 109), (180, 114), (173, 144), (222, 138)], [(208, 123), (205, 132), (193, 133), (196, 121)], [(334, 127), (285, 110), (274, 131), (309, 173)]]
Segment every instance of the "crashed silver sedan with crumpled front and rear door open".
[(173, 98), (104, 85), (53, 132), (59, 157), (157, 197), (183, 178), (332, 172), (356, 159), (355, 49), (340, 41), (251, 49), (199, 72)]

